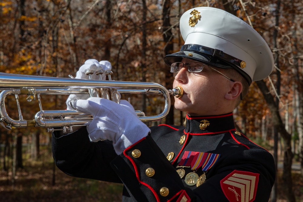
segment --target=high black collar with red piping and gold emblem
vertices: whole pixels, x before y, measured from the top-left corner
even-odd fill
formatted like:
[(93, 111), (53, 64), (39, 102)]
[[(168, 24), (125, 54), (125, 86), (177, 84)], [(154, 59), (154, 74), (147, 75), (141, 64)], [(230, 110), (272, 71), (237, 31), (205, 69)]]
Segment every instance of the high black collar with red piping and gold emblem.
[(233, 114), (191, 117), (186, 115), (184, 132), (192, 135), (218, 134), (235, 129)]

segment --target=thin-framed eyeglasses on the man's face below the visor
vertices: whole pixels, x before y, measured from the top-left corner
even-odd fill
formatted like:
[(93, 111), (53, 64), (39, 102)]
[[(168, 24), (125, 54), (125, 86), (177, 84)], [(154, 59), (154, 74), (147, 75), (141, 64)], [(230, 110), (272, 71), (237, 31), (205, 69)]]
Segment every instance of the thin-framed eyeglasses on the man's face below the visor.
[(203, 70), (203, 68), (205, 66), (207, 66), (207, 67), (211, 68), (212, 70), (215, 70), (219, 74), (223, 75), (228, 80), (230, 80), (232, 82), (235, 82), (234, 80), (232, 80), (228, 76), (224, 75), (220, 71), (216, 70), (215, 68), (213, 68), (213, 67), (211, 67), (209, 65), (206, 65), (204, 63), (198, 62), (198, 61), (192, 61), (192, 62), (189, 62), (187, 64), (184, 64), (183, 62), (174, 62), (174, 63), (171, 64), (171, 73), (177, 73), (177, 72), (179, 72), (185, 65), (188, 65), (188, 71), (189, 72), (201, 72)]

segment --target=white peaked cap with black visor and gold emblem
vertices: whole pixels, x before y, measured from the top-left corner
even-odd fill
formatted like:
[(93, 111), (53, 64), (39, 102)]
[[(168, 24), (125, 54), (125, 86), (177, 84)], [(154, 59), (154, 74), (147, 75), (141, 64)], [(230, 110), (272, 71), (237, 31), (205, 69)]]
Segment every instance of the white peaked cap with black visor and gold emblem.
[(180, 31), (185, 45), (164, 57), (168, 65), (189, 58), (219, 68), (235, 68), (249, 84), (266, 78), (274, 68), (266, 41), (243, 20), (224, 10), (192, 8), (181, 16)]

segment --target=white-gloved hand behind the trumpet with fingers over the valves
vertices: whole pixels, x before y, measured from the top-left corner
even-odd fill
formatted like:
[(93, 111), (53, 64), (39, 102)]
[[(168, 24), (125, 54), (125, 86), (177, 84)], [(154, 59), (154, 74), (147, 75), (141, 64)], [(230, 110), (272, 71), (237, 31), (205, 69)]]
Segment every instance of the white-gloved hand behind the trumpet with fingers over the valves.
[[(85, 61), (84, 65), (82, 65), (79, 70), (76, 73), (76, 78), (81, 78), (81, 79), (89, 79), (89, 76), (85, 74), (86, 71), (94, 71), (94, 74), (92, 74), (92, 79), (94, 80), (99, 80), (99, 76), (95, 74), (95, 71), (98, 70), (103, 70), (103, 74), (101, 75), (102, 80), (105, 80), (105, 71), (111, 70), (112, 65), (109, 61), (100, 61), (98, 62), (95, 59), (89, 59)], [(88, 94), (71, 94), (67, 100), (66, 100), (66, 105), (68, 110), (72, 110), (72, 106), (70, 104), (70, 101), (73, 98), (78, 98), (82, 100), (86, 100), (89, 97)]]

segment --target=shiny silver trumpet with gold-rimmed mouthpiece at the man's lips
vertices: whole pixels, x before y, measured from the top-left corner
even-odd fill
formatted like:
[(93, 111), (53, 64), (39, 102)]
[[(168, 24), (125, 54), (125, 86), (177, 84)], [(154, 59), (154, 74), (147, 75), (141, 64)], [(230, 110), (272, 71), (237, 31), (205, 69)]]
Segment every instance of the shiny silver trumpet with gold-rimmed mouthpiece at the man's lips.
[[(91, 75), (93, 72), (86, 72)], [(73, 126), (81, 126), (92, 120), (92, 115), (85, 114), (79, 110), (42, 110), (40, 95), (70, 95), (70, 94), (89, 94), (90, 97), (101, 97), (110, 99), (117, 103), (120, 102), (120, 94), (155, 94), (163, 95), (165, 105), (163, 111), (155, 116), (145, 116), (143, 111), (136, 111), (141, 121), (159, 121), (165, 118), (171, 105), (170, 94), (181, 98), (183, 89), (176, 87), (167, 90), (164, 86), (157, 83), (133, 82), (133, 81), (114, 81), (111, 80), (112, 71), (105, 72), (108, 80), (101, 80), (102, 70), (95, 72), (100, 75), (100, 80), (44, 77), (32, 75), (17, 75), (0, 73), (0, 124), (7, 130), (12, 127), (45, 127), (47, 131), (69, 130), (72, 132)], [(24, 120), (22, 117), (18, 95), (28, 95), (27, 100), (38, 99), (40, 111), (35, 114), (34, 120)], [(19, 120), (13, 120), (8, 116), (5, 109), (5, 98), (14, 95)], [(6, 124), (6, 125), (5, 125)], [(54, 129), (56, 128), (56, 129)], [(58, 129), (59, 128), (59, 129)]]

